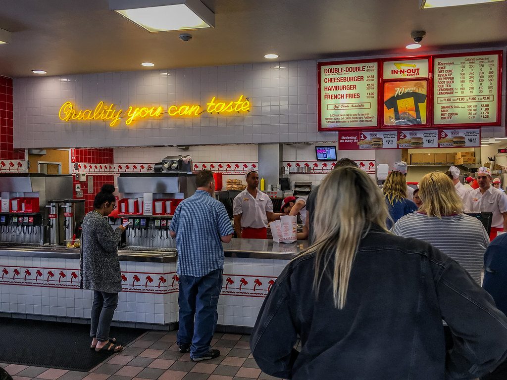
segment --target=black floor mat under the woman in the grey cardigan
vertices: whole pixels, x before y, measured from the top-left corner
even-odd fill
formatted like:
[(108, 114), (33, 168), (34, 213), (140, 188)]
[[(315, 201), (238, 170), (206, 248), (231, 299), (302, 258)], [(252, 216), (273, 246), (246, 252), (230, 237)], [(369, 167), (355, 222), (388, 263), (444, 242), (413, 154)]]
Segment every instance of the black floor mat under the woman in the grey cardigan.
[[(147, 330), (111, 327), (127, 345)], [(0, 363), (89, 371), (108, 356), (90, 349), (90, 325), (0, 318)]]

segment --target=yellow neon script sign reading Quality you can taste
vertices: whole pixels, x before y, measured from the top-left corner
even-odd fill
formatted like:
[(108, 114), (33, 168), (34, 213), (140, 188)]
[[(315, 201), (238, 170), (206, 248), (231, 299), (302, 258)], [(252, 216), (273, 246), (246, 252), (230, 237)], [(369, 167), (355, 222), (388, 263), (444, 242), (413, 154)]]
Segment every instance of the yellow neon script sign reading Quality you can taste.
[(203, 112), (208, 113), (233, 113), (233, 112), (249, 112), (250, 102), (248, 98), (240, 95), (238, 100), (231, 100), (230, 102), (223, 102), (217, 100), (214, 96), (206, 103), (206, 108), (201, 107), (199, 104), (183, 104), (180, 106), (171, 105), (164, 110), (164, 107), (128, 107), (124, 112), (123, 109), (115, 109), (114, 104), (107, 105), (100, 101), (95, 109), (77, 110), (76, 106), (67, 101), (62, 104), (58, 117), (60, 120), (71, 122), (75, 120), (102, 120), (111, 121), (111, 127), (118, 125), (119, 121), (126, 117), (125, 124), (130, 125), (134, 121), (146, 118), (158, 118), (164, 113), (169, 116), (199, 116)]

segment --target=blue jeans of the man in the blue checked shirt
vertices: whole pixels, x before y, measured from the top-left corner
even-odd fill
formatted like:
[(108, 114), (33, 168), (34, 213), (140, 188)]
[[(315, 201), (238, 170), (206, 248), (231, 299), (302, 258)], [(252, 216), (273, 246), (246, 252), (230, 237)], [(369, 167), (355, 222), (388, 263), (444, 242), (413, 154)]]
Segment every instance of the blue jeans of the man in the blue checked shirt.
[(216, 306), (222, 290), (222, 273), (222, 269), (216, 269), (203, 277), (179, 276), (177, 343), (192, 343), (191, 358), (202, 357), (211, 348), (219, 318)]

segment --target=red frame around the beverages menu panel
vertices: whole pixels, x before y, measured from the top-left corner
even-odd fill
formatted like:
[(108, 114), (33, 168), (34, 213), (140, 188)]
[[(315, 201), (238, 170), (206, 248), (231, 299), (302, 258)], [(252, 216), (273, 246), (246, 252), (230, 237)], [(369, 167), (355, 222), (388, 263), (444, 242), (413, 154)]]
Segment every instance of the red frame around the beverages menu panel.
[[(433, 121), (434, 126), (438, 126), (439, 128), (456, 128), (456, 127), (469, 127), (470, 125), (480, 125), (480, 126), (501, 126), (501, 115), (502, 115), (502, 67), (503, 67), (503, 51), (502, 50), (492, 50), (492, 51), (483, 51), (483, 52), (470, 52), (470, 53), (455, 53), (455, 54), (438, 54), (434, 55), (431, 58), (431, 63), (434, 65), (435, 59), (441, 58), (452, 58), (452, 57), (469, 57), (469, 56), (477, 56), (477, 55), (497, 55), (498, 56), (498, 72), (496, 75), (497, 78), (497, 93), (496, 93), (496, 120), (493, 122), (470, 122), (470, 123), (454, 123), (454, 124), (439, 124)], [(437, 78), (433, 76), (433, 86), (436, 86), (435, 82)], [(431, 101), (431, 108), (433, 108), (433, 99)], [(433, 109), (431, 109), (431, 114), (434, 115)], [(507, 126), (506, 126), (507, 127)]]

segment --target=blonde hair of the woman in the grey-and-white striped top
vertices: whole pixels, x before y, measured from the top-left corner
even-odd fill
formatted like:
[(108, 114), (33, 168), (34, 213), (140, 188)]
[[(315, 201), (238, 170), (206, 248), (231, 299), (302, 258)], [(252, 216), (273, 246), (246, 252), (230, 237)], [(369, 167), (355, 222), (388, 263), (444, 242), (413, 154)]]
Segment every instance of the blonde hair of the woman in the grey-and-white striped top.
[(459, 198), (452, 180), (447, 174), (435, 171), (426, 174), (419, 182), (419, 198), (422, 206), (419, 212), (425, 213), (428, 217), (461, 214), (463, 204)]

